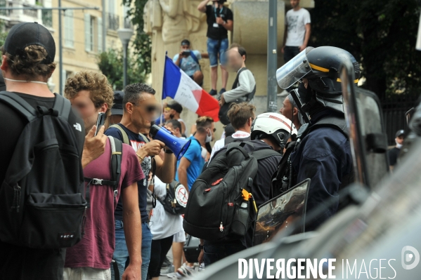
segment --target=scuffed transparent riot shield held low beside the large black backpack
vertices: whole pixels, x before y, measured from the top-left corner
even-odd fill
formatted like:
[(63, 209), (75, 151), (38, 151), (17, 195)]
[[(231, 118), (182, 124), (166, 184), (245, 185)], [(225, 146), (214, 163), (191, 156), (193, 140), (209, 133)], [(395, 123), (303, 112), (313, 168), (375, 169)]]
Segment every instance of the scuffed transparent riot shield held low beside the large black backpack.
[[(271, 240), (275, 234), (286, 229), (293, 222), (305, 219), (309, 186), (310, 179), (306, 179), (259, 206), (254, 226), (254, 246)], [(292, 234), (304, 232), (305, 222), (302, 225)]]

